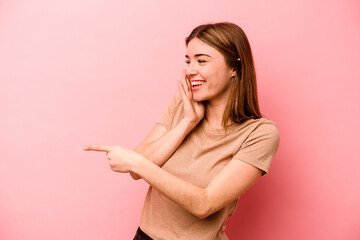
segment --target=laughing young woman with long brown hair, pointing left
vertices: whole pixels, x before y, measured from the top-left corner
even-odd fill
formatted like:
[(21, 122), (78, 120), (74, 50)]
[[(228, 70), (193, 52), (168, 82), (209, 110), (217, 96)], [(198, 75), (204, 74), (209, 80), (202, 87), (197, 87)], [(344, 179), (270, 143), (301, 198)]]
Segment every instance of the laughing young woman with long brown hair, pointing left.
[(232, 23), (201, 25), (186, 38), (188, 67), (158, 123), (135, 151), (91, 145), (112, 170), (149, 190), (134, 239), (228, 239), (239, 197), (267, 174), (279, 145), (261, 116), (250, 44)]

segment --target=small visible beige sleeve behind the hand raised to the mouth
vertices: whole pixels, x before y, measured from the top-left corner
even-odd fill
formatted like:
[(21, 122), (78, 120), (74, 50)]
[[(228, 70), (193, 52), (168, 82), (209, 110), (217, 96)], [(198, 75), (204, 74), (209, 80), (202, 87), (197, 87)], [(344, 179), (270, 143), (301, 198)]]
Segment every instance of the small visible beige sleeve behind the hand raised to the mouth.
[(170, 130), (173, 126), (175, 116), (177, 112), (179, 112), (181, 102), (182, 102), (182, 98), (180, 94), (174, 94), (168, 106), (163, 110), (157, 123), (163, 125), (168, 130)]

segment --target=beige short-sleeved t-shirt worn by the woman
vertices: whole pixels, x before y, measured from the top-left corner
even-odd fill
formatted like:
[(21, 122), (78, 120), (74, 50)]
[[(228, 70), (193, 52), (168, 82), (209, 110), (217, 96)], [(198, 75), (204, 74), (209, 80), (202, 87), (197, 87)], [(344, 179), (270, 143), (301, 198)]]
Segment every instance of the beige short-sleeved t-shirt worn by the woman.
[[(175, 94), (158, 123), (174, 128), (184, 116), (180, 94)], [(250, 119), (224, 130), (202, 120), (189, 133), (163, 169), (189, 183), (205, 188), (229, 161), (244, 161), (267, 174), (279, 145), (274, 122)], [(234, 179), (236, 181), (236, 179)], [(140, 217), (140, 228), (155, 240), (228, 239), (226, 219), (236, 210), (237, 200), (205, 219), (199, 219), (149, 187)]]

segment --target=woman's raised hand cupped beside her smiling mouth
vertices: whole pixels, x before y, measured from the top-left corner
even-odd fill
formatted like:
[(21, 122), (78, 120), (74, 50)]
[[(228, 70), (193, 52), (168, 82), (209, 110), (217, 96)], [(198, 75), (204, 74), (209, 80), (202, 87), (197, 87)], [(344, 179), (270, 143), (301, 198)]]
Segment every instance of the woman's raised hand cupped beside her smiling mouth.
[(186, 76), (186, 70), (183, 70), (181, 80), (178, 81), (178, 88), (184, 102), (184, 120), (195, 127), (204, 118), (205, 106), (202, 102), (193, 100), (191, 82)]

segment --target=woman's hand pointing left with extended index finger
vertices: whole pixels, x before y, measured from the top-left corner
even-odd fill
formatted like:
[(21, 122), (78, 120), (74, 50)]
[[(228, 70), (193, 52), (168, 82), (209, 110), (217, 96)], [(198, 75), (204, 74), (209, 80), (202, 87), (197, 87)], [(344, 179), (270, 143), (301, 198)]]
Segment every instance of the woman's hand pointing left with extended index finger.
[(85, 146), (84, 150), (106, 152), (111, 169), (121, 173), (130, 172), (134, 164), (143, 158), (139, 153), (120, 146), (89, 145)]

